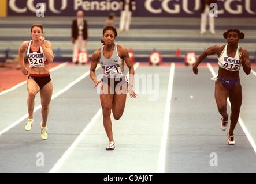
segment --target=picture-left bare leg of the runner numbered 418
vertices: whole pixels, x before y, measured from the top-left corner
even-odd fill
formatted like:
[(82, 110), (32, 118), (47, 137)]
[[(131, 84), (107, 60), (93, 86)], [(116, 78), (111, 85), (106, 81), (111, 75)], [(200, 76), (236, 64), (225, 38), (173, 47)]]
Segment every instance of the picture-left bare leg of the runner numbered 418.
[(221, 114), (224, 121), (228, 120), (227, 114), (227, 98), (228, 90), (220, 81), (215, 82), (215, 101), (218, 107), (218, 112)]

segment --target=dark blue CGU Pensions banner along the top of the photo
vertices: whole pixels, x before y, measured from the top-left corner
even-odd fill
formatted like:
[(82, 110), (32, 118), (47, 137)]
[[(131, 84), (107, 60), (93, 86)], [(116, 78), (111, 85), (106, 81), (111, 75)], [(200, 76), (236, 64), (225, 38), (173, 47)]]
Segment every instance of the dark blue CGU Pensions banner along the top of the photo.
[[(256, 17), (256, 0), (218, 0), (218, 17)], [(118, 0), (8, 0), (8, 16), (120, 15)], [(200, 0), (135, 0), (135, 17), (200, 17)]]

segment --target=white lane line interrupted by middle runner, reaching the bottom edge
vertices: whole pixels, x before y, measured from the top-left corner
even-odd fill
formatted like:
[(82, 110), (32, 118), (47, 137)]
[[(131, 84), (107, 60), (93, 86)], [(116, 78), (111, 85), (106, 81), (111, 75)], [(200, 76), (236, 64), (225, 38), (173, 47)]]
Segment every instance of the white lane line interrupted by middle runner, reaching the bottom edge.
[[(137, 62), (134, 66), (134, 70), (136, 70), (139, 67), (139, 62)], [(129, 72), (126, 76), (129, 75)], [(91, 129), (92, 125), (96, 122), (96, 120), (100, 117), (102, 114), (102, 108), (98, 110), (98, 112), (92, 117), (91, 121), (86, 125), (86, 128), (83, 129), (83, 131), (79, 134), (79, 136), (76, 138), (76, 140), (71, 144), (71, 146), (68, 148), (68, 150), (65, 151), (65, 153), (61, 156), (61, 158), (58, 160), (58, 162), (51, 168), (49, 171), (50, 173), (57, 172), (62, 164), (64, 164), (66, 158), (71, 154), (71, 152), (75, 149), (76, 145), (83, 139), (84, 135)]]

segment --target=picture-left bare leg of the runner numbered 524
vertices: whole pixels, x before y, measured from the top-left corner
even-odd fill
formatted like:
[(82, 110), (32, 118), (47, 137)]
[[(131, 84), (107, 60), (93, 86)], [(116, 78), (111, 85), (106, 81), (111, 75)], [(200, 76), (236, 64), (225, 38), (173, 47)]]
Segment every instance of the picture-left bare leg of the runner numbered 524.
[(33, 79), (27, 80), (27, 90), (28, 90), (28, 118), (33, 118), (33, 111), (35, 107), (35, 97), (38, 91), (40, 90), (40, 87)]

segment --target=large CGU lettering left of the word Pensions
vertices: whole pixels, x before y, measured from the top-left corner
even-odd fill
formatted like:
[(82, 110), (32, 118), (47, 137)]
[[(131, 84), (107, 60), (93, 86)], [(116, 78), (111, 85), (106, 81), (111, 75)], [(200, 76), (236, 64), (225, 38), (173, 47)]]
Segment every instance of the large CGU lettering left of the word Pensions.
[[(61, 13), (61, 11), (56, 10), (54, 7), (54, 1), (55, 0), (49, 0), (49, 10), (53, 13)], [(44, 7), (46, 7), (46, 3), (41, 3), (43, 4)], [(68, 5), (68, 1), (67, 0), (62, 0), (61, 1), (61, 10), (66, 9), (67, 5)], [(36, 11), (38, 10), (35, 6), (34, 6), (34, 0), (28, 0), (27, 1), (27, 6), (20, 8), (17, 7), (16, 5), (16, 0), (10, 0), (9, 1), (9, 7), (10, 9), (12, 9), (13, 11), (15, 11), (16, 13), (25, 13), (27, 12), (27, 10), (29, 9), (30, 11), (36, 13)]]

